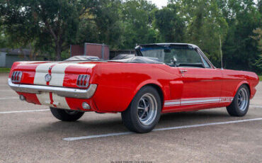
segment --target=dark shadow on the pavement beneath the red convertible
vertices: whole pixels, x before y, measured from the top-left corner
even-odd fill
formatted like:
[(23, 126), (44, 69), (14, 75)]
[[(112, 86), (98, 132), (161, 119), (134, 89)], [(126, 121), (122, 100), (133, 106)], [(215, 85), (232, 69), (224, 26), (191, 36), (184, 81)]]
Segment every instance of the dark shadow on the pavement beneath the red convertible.
[[(58, 120), (50, 123), (46, 122), (38, 128), (32, 128), (29, 132), (32, 134), (38, 133), (43, 135), (46, 133), (52, 133), (52, 135), (63, 135), (62, 137), (78, 137), (84, 135), (127, 132), (128, 130), (123, 125), (120, 114), (118, 115), (119, 117), (103, 117), (96, 120), (86, 120), (88, 118), (87, 116), (86, 118), (82, 118), (76, 122), (62, 122)], [(159, 120), (159, 124), (156, 125), (156, 128), (210, 123), (214, 121), (222, 121), (222, 118), (229, 120), (228, 114), (220, 111), (164, 113), (161, 115), (161, 119)]]

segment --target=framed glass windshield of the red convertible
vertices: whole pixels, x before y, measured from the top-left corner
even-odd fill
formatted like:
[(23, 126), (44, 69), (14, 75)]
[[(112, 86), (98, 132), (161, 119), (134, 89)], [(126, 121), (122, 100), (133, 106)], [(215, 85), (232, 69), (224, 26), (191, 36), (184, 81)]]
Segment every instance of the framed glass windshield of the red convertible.
[(185, 45), (150, 45), (141, 46), (144, 57), (157, 57), (161, 62), (171, 66), (203, 67), (198, 52)]

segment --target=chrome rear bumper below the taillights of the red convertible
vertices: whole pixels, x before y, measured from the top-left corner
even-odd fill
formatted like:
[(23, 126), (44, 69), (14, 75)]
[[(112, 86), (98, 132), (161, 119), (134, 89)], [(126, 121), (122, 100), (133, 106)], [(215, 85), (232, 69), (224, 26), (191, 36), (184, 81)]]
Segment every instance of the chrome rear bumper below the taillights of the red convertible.
[(89, 99), (93, 96), (96, 91), (97, 85), (90, 84), (89, 89), (73, 89), (64, 88), (59, 86), (40, 86), (40, 85), (28, 85), (28, 84), (13, 84), (11, 79), (8, 79), (8, 85), (14, 91), (30, 93), (30, 94), (41, 94), (41, 92), (52, 92), (58, 96), (72, 97), (76, 99)]

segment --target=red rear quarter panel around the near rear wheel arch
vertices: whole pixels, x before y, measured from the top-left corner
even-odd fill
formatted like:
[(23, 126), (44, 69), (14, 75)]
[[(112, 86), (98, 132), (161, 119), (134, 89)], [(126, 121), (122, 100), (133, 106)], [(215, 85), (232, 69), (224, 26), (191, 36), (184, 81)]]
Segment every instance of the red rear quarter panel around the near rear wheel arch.
[(137, 91), (147, 84), (159, 86), (164, 99), (169, 99), (169, 82), (179, 77), (178, 69), (171, 72), (165, 64), (98, 64), (93, 71), (91, 84), (98, 84), (93, 100), (101, 112), (124, 111)]

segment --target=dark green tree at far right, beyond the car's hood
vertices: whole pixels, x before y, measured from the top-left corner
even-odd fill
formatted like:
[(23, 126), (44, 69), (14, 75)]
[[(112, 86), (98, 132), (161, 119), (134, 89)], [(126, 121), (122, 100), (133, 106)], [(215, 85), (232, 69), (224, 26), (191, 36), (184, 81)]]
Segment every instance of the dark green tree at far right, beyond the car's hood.
[[(259, 3), (258, 3), (259, 4)], [(261, 27), (261, 13), (254, 1), (227, 0), (220, 6), (227, 19), (229, 30), (223, 44), (224, 65), (229, 69), (244, 69), (259, 72), (256, 62), (261, 57), (258, 41), (251, 36)]]

